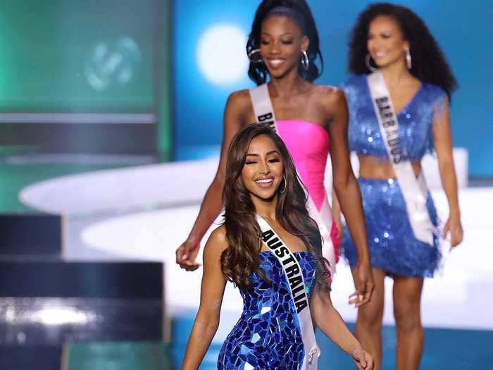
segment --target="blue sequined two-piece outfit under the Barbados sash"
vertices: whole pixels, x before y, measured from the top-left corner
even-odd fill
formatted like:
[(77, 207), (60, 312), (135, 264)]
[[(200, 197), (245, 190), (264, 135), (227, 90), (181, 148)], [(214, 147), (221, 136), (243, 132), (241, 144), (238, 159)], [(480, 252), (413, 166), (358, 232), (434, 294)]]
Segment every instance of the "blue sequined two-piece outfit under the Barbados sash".
[[(373, 109), (366, 75), (352, 75), (344, 83), (349, 106), (349, 149), (358, 155), (388, 161)], [(432, 125), (437, 110), (443, 109), (447, 94), (438, 86), (423, 83), (411, 101), (397, 114), (401, 145), (411, 161), (420, 161), (433, 149)], [(372, 266), (390, 275), (432, 276), (439, 265), (440, 252), (434, 245), (417, 240), (408, 221), (406, 204), (397, 180), (358, 178), (363, 199)], [(428, 212), (437, 226), (437, 211), (428, 193)], [(356, 249), (347, 227), (342, 237), (344, 256), (356, 265)]]

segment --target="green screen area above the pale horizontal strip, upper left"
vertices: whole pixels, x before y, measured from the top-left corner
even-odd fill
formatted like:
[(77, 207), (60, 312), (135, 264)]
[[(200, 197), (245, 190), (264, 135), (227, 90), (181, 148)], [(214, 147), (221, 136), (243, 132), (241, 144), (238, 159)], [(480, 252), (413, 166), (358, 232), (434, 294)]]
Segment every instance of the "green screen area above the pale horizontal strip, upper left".
[[(2, 111), (153, 111), (156, 0), (3, 0)], [(118, 47), (132, 39), (137, 48)], [(91, 63), (99, 44), (108, 50)], [(132, 42), (130, 42), (132, 44)], [(118, 81), (130, 65), (132, 78)], [(89, 70), (108, 81), (95, 89)]]

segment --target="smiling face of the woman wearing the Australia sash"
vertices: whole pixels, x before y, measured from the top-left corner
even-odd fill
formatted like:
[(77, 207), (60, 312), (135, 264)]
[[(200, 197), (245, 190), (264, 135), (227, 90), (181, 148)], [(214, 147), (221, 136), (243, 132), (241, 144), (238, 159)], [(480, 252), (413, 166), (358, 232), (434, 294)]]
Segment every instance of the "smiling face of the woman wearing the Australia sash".
[(252, 200), (273, 199), (282, 182), (283, 171), (282, 156), (273, 140), (267, 135), (254, 137), (242, 169), (242, 180)]

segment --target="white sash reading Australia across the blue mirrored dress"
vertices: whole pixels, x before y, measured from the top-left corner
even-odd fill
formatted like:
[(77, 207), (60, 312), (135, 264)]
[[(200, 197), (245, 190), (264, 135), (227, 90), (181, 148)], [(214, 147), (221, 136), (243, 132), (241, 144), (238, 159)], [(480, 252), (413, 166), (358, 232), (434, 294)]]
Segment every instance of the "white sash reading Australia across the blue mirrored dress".
[(308, 304), (308, 295), (305, 290), (305, 280), (301, 266), (299, 266), (294, 254), (282, 242), (281, 238), (279, 238), (267, 221), (258, 215), (256, 218), (258, 226), (262, 230), (263, 243), (277, 257), (285, 272), (291, 299), (297, 312), (301, 340), (303, 341), (305, 352), (301, 370), (317, 369), (320, 348), (316, 342), (315, 331), (313, 331), (313, 322), (311, 321), (310, 306)]

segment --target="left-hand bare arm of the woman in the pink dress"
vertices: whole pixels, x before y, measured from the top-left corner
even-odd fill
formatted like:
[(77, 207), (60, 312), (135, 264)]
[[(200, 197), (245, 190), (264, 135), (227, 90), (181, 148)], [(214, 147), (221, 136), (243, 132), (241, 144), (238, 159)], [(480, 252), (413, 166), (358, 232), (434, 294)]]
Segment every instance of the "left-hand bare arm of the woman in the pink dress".
[[(234, 92), (227, 99), (226, 109), (224, 112), (223, 125), (223, 144), (221, 145), (220, 161), (216, 176), (209, 185), (204, 200), (200, 206), (199, 215), (197, 216), (194, 226), (190, 231), (187, 240), (176, 249), (176, 263), (182, 269), (194, 271), (199, 268), (195, 259), (200, 249), (200, 241), (204, 234), (211, 227), (223, 208), (223, 187), (226, 173), (227, 149), (230, 146), (232, 138), (241, 130), (245, 106), (249, 104), (248, 91)], [(243, 113), (242, 113), (243, 112)]]

